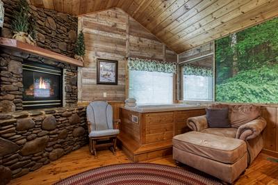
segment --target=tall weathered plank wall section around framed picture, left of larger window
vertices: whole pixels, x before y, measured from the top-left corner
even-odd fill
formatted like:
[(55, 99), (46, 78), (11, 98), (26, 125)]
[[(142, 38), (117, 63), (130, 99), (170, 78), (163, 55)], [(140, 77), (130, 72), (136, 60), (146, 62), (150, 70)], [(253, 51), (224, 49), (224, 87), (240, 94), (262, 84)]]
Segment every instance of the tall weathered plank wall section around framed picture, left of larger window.
[[(79, 102), (125, 99), (126, 13), (107, 10), (79, 17), (85, 37), (85, 63), (81, 70)], [(97, 58), (118, 61), (118, 84), (97, 85)], [(107, 97), (103, 93), (106, 92)]]

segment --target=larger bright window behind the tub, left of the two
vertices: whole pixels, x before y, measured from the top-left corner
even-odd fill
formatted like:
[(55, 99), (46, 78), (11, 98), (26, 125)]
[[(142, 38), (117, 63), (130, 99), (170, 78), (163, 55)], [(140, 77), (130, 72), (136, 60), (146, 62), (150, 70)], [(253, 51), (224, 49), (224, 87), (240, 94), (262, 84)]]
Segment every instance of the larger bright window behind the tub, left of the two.
[(172, 104), (174, 74), (129, 70), (129, 97), (137, 104)]

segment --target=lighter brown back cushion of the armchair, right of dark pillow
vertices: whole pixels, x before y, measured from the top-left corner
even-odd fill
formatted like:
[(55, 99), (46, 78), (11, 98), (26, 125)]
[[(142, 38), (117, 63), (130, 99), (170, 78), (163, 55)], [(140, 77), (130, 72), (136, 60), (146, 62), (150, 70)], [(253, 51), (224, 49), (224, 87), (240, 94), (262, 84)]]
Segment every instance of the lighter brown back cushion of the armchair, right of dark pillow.
[(259, 118), (261, 106), (255, 105), (234, 105), (230, 111), (231, 127), (238, 128), (241, 125)]

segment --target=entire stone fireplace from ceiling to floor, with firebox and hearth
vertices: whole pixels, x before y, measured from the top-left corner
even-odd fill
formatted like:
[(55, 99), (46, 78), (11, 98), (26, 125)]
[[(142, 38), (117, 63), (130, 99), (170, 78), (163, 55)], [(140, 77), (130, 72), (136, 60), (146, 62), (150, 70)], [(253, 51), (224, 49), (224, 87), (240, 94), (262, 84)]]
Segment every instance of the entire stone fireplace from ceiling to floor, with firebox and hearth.
[[(16, 2), (3, 0), (2, 38), (13, 35), (10, 22)], [(85, 107), (76, 105), (77, 66), (61, 60), (74, 56), (77, 18), (30, 8), (37, 18), (38, 52), (32, 53), (28, 46), (25, 51), (0, 50), (0, 181), (4, 184), (88, 143)], [(48, 51), (55, 53), (47, 57)]]

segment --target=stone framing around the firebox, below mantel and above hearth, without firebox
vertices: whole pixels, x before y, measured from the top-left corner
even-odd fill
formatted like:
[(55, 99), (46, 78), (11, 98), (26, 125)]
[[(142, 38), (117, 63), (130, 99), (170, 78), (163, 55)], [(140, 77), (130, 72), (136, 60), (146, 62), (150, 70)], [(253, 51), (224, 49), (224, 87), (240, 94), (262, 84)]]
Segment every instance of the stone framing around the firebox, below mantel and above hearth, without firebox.
[[(77, 67), (53, 61), (21, 51), (2, 49), (0, 52), (0, 108), (2, 112), (22, 111), (22, 62), (33, 61), (63, 69), (63, 106), (72, 107), (77, 103)], [(0, 112), (1, 112), (0, 111)]]

